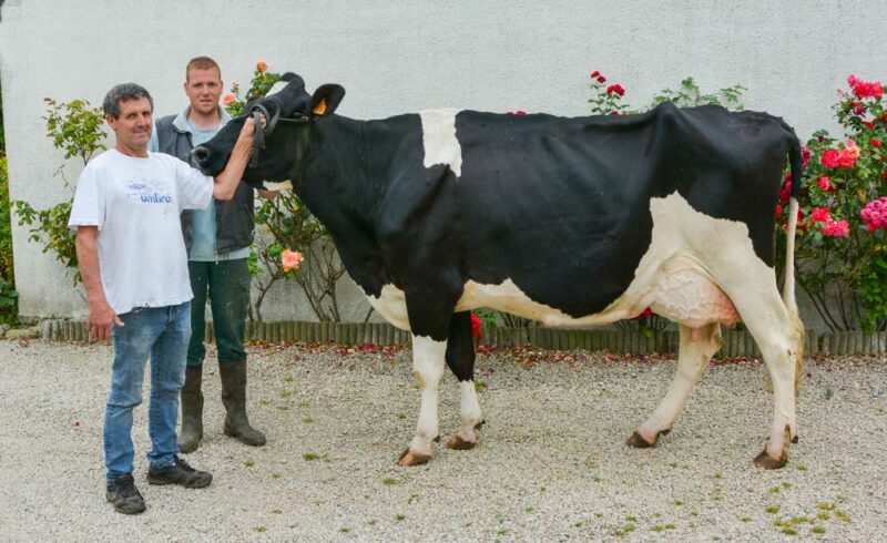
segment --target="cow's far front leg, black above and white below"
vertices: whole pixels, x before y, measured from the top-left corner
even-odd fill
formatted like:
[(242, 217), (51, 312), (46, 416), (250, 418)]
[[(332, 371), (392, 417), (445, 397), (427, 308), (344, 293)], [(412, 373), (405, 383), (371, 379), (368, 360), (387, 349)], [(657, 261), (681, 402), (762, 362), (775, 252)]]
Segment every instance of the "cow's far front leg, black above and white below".
[(459, 433), (447, 441), (450, 449), (473, 449), (478, 443), (478, 429), (483, 423), (478, 392), (475, 388), (475, 338), (471, 336), (471, 313), (459, 311), (450, 320), (447, 338), (447, 366), (459, 380)]

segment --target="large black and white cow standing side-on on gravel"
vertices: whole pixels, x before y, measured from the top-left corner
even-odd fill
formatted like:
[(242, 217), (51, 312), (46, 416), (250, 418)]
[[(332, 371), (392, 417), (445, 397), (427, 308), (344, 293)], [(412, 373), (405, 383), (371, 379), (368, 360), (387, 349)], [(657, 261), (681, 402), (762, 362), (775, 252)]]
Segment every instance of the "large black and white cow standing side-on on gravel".
[[(478, 442), (469, 314), (478, 307), (552, 326), (651, 307), (679, 322), (676, 375), (633, 447), (653, 447), (672, 428), (721, 347), (721, 324), (742, 318), (775, 396), (755, 463), (785, 465), (803, 340), (792, 242), (801, 148), (781, 119), (666, 103), (626, 116), (450, 109), (355, 121), (334, 114), (344, 94), (336, 84), (308, 94), (286, 74), (247, 104), (267, 126), (244, 178), (292, 181), (373, 307), (411, 330), (421, 411), (402, 465), (431, 455), (445, 361), (461, 388), (461, 428), (448, 447)], [(204, 172), (222, 171), (245, 119), (194, 151)], [(781, 297), (774, 211), (786, 156), (795, 183)]]

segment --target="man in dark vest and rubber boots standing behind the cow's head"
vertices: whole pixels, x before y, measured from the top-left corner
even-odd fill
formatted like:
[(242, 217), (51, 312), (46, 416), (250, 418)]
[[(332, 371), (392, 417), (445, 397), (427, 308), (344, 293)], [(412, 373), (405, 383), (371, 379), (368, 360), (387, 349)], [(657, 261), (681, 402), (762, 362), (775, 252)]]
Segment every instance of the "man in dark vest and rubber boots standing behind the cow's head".
[[(188, 162), (191, 150), (210, 141), (231, 120), (218, 105), (223, 92), (222, 71), (208, 57), (192, 59), (185, 68), (185, 94), (190, 105), (177, 115), (156, 123), (151, 150)], [(277, 193), (263, 192), (273, 197)], [(230, 202), (216, 199), (205, 211), (182, 213), (182, 233), (188, 253), (188, 274), (194, 300), (192, 336), (182, 388), (182, 431), (179, 448), (192, 452), (203, 438), (203, 361), (206, 357), (205, 306), (207, 293), (218, 348), (224, 432), (248, 445), (265, 444), (265, 434), (246, 416), (246, 350), (244, 330), (249, 306), (247, 259), (253, 243), (253, 189), (242, 183)]]

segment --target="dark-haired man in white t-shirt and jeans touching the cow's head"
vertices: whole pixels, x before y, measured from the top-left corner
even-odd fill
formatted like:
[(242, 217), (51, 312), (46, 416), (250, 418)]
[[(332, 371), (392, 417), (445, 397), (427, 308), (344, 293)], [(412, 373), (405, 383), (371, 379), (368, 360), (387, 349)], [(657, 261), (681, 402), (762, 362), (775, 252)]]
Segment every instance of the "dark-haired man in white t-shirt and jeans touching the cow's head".
[(181, 160), (149, 153), (153, 101), (134, 83), (104, 98), (105, 121), (116, 136), (80, 175), (69, 227), (90, 306), (90, 334), (113, 339), (114, 363), (104, 418), (106, 499), (121, 513), (145, 510), (132, 477), (133, 408), (142, 402), (151, 358), (147, 481), (204, 488), (212, 474), (177, 455), (179, 393), (191, 338), (191, 284), (179, 215), (231, 199), (252, 150), (253, 122), (241, 131), (231, 161), (215, 180)]

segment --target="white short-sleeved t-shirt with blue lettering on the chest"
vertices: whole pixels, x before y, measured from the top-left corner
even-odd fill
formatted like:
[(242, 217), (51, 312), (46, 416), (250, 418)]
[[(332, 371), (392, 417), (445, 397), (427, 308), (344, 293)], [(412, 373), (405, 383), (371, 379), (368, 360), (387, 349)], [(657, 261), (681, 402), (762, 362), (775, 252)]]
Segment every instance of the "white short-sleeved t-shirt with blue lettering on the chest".
[(102, 287), (114, 313), (194, 295), (179, 215), (213, 201), (213, 178), (174, 156), (109, 150), (80, 174), (68, 226), (99, 227)]

